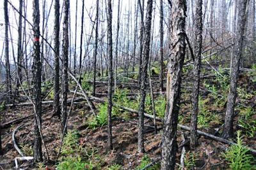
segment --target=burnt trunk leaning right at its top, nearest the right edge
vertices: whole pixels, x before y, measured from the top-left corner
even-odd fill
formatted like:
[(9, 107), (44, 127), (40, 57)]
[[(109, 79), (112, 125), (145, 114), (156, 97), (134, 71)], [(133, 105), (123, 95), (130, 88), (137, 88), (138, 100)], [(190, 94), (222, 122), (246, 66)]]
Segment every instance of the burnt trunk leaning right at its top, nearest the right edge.
[(225, 126), (223, 131), (223, 138), (232, 138), (233, 136), (233, 120), (234, 120), (234, 108), (236, 105), (236, 89), (237, 78), (239, 76), (239, 67), (241, 65), (241, 57), (244, 42), (244, 27), (246, 24), (246, 5), (247, 0), (238, 0), (238, 24), (236, 32), (236, 44), (233, 49), (233, 56), (230, 64), (230, 87), (228, 91), (227, 99), (227, 111), (225, 115)]

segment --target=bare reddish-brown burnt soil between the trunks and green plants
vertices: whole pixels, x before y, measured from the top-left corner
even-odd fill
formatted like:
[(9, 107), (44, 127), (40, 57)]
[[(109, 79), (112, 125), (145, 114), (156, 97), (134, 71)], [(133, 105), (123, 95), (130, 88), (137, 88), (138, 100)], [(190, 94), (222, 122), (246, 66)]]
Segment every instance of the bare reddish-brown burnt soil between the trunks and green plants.
[[(189, 84), (189, 83), (188, 83)], [(188, 86), (184, 83), (184, 86)], [(134, 85), (118, 85), (120, 89), (128, 88), (131, 92), (138, 92)], [(157, 91), (157, 89), (154, 89)], [(191, 90), (191, 89), (189, 89)], [(189, 91), (188, 90), (188, 91)], [(107, 89), (104, 85), (99, 85), (97, 87), (97, 93), (106, 94)], [(202, 92), (204, 93), (204, 92)], [(98, 96), (104, 96), (99, 95)], [(72, 97), (72, 94), (70, 94)], [(182, 100), (184, 104), (181, 105), (180, 114), (184, 118), (188, 117), (190, 104), (188, 95), (184, 96), (182, 94)], [(187, 101), (187, 102), (186, 102)], [(97, 103), (93, 102), (97, 105)], [(253, 103), (250, 103), (253, 104)], [(56, 160), (58, 150), (56, 148), (60, 147), (60, 119), (58, 117), (51, 118), (52, 106), (51, 104), (42, 105), (42, 133), (45, 145), (49, 152), (50, 160)], [(223, 115), (225, 115), (225, 108), (216, 108), (220, 111), (221, 123), (220, 124), (210, 124), (210, 127), (204, 129), (203, 127), (199, 130), (214, 133), (216, 129), (221, 127), (223, 124)], [(83, 114), (82, 114), (83, 112)], [(2, 123), (10, 122), (20, 117), (26, 117), (33, 114), (33, 106), (15, 106), (13, 108), (5, 108), (1, 111)], [(113, 118), (113, 150), (108, 150), (108, 127), (104, 125), (102, 127), (97, 127), (95, 129), (88, 129), (84, 126), (84, 117), (90, 117), (92, 113), (90, 109), (83, 104), (76, 104), (72, 108), (72, 113), (68, 120), (68, 129), (77, 130), (77, 135), (79, 139), (77, 143), (83, 143), (83, 147), (95, 148), (97, 154), (102, 157), (104, 164), (100, 169), (107, 169), (110, 164), (116, 163), (121, 164), (121, 169), (135, 169), (140, 165), (141, 157), (147, 155), (151, 161), (156, 160), (161, 157), (161, 130), (154, 134), (152, 127), (145, 126), (145, 153), (143, 155), (137, 152), (137, 134), (138, 134), (138, 115), (131, 113), (131, 119), (124, 120), (122, 118)], [(236, 121), (236, 120), (235, 120)], [(236, 121), (237, 122), (237, 121)], [(11, 127), (2, 129), (2, 146), (3, 155), (0, 156), (0, 162), (8, 162), (8, 164), (0, 164), (0, 169), (12, 169), (15, 167), (14, 159), (15, 157), (20, 157), (19, 153), (15, 150), (12, 142), (12, 132), (15, 127), (22, 125), (20, 129), (15, 134), (15, 139), (19, 146), (32, 147), (33, 148), (33, 117), (24, 119), (22, 122), (17, 124), (12, 124)], [(145, 118), (145, 125), (154, 125), (151, 119)], [(184, 125), (189, 126), (188, 121), (184, 122)], [(157, 123), (157, 127), (161, 129), (161, 122)], [(178, 145), (182, 144), (181, 134), (184, 134), (186, 141), (189, 141), (189, 132), (178, 128)], [(218, 134), (217, 134), (218, 135)], [(219, 134), (220, 135), (220, 134)], [(221, 153), (227, 150), (228, 145), (225, 145), (219, 141), (213, 141), (205, 136), (198, 136), (199, 146), (193, 152), (197, 153), (195, 160), (195, 166), (199, 169), (227, 169), (227, 164), (225, 163)], [(246, 138), (246, 144), (252, 148), (256, 148), (255, 139)], [(189, 145), (185, 145), (186, 155), (189, 159)], [(177, 153), (177, 164), (180, 164), (180, 155), (182, 148), (178, 149)], [(190, 151), (192, 152), (192, 151)], [(43, 153), (45, 159), (45, 148), (43, 146)], [(26, 156), (32, 156), (28, 153)], [(45, 159), (46, 161), (46, 159)], [(20, 162), (23, 165), (27, 165), (26, 162)], [(54, 164), (45, 162), (48, 169), (54, 169)], [(178, 166), (177, 166), (178, 168)], [(24, 167), (23, 169), (32, 169), (31, 167)]]

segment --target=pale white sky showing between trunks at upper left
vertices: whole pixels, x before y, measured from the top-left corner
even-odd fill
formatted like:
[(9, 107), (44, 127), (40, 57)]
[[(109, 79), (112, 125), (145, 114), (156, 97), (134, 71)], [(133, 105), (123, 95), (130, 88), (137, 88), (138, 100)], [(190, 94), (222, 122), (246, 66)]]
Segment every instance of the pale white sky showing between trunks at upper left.
[[(18, 0), (9, 0), (10, 3), (13, 4), (13, 6), (15, 6), (15, 8), (17, 10), (19, 10), (19, 1)], [(27, 8), (27, 19), (29, 20), (30, 23), (32, 23), (32, 0), (24, 0), (25, 4), (28, 4)], [(43, 4), (44, 0), (40, 0), (40, 33), (42, 34), (42, 4)], [(117, 3), (118, 1), (113, 1), (114, 2), (114, 6), (113, 6), (113, 29), (116, 29), (116, 13), (117, 13)], [(122, 18), (124, 18), (123, 14), (125, 13), (124, 8), (126, 8), (127, 13), (128, 13), (128, 3), (129, 0), (122, 0), (122, 7), (121, 7), (121, 22), (122, 22)], [(133, 4), (133, 0), (130, 1), (131, 2), (131, 8), (132, 8), (132, 13), (134, 13), (134, 4)], [(52, 6), (51, 6), (52, 3)], [(80, 32), (81, 32), (81, 16), (82, 16), (82, 0), (78, 0), (77, 1), (78, 5), (77, 5), (77, 50), (80, 48), (79, 44), (80, 44)], [(95, 8), (96, 8), (96, 1), (94, 0), (84, 0), (84, 43), (86, 43), (86, 39), (90, 36), (91, 32), (92, 32), (92, 21), (95, 20)], [(60, 11), (62, 9), (63, 6), (63, 0), (60, 0)], [(48, 15), (49, 10), (51, 7), (51, 13), (49, 15), (49, 20), (47, 22), (47, 27), (48, 27), (48, 39), (49, 41), (52, 40), (52, 35), (53, 35), (53, 22), (54, 22), (54, 0), (46, 0), (46, 5), (45, 5), (45, 9), (46, 9), (46, 15)], [(106, 29), (106, 6), (105, 6), (105, 1), (104, 1), (104, 5), (103, 8), (101, 9), (102, 5), (100, 2), (100, 11), (99, 11), (99, 15), (101, 15), (101, 11), (103, 10), (104, 12), (104, 18), (105, 20), (102, 21), (100, 20), (100, 22), (104, 22), (104, 27)], [(24, 10), (24, 8), (23, 8)], [(12, 39), (13, 39), (13, 46), (15, 48), (14, 52), (16, 52), (16, 46), (17, 46), (17, 38), (18, 38), (18, 22), (19, 22), (19, 13), (15, 10), (13, 10), (12, 6), (10, 6), (10, 4), (8, 4), (8, 11), (9, 11), (9, 22), (10, 22), (10, 26), (11, 26), (11, 32), (12, 32)], [(72, 38), (72, 42), (71, 42), (71, 46), (74, 46), (74, 37), (75, 37), (75, 23), (76, 23), (76, 0), (72, 0), (70, 1), (70, 13), (71, 13), (71, 38)], [(0, 0), (0, 15), (4, 16), (4, 10), (3, 10), (3, 0)], [(22, 13), (22, 15), (24, 15), (24, 11)], [(133, 14), (132, 14), (133, 15)], [(91, 18), (90, 18), (91, 17)], [(63, 18), (63, 17), (62, 17)], [(100, 17), (101, 18), (101, 17)], [(91, 21), (92, 20), (92, 21)], [(46, 22), (46, 21), (45, 21)], [(101, 24), (99, 22), (99, 24)], [(24, 24), (24, 21), (22, 21), (22, 23)], [(3, 24), (3, 25), (2, 25)], [(60, 31), (62, 32), (62, 20), (60, 22), (60, 26), (61, 29)], [(26, 25), (26, 29), (27, 29), (27, 36), (29, 37), (29, 41), (32, 40), (32, 29), (31, 26), (29, 24)], [(4, 42), (4, 17), (0, 18), (0, 46), (1, 48), (3, 48), (3, 42)], [(9, 32), (10, 34), (10, 32)], [(62, 33), (61, 33), (62, 34)], [(60, 35), (61, 35), (60, 34)], [(113, 35), (115, 36), (115, 35)], [(9, 36), (10, 38), (10, 36)], [(91, 42), (92, 43), (92, 42)], [(1, 49), (0, 48), (0, 49)], [(32, 48), (32, 46), (29, 46), (29, 48)], [(28, 52), (30, 52), (31, 50), (27, 49)], [(12, 52), (12, 45), (10, 45), (10, 52)], [(11, 55), (12, 56), (12, 55)], [(4, 56), (1, 59), (2, 61), (4, 61)], [(11, 64), (13, 64), (13, 57), (10, 57), (10, 62)]]

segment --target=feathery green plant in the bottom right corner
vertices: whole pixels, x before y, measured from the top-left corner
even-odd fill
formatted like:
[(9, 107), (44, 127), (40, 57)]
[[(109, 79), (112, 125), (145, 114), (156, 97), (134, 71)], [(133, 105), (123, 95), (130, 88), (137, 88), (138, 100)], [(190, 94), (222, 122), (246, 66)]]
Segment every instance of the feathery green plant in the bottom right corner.
[(237, 145), (231, 145), (223, 157), (227, 160), (230, 169), (256, 169), (255, 159), (252, 155), (246, 154), (249, 150), (243, 146), (243, 136), (241, 131), (237, 131)]

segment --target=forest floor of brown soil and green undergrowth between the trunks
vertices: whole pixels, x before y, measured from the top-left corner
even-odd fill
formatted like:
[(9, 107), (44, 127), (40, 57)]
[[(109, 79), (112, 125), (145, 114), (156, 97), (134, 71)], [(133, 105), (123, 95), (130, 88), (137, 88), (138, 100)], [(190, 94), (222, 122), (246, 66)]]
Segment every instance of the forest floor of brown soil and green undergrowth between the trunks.
[[(239, 95), (237, 97), (237, 103), (241, 103), (243, 106), (237, 104), (235, 110), (236, 116), (234, 117), (235, 134), (237, 130), (241, 130), (244, 145), (253, 149), (256, 149), (255, 76), (256, 73), (248, 72), (242, 72), (239, 76)], [(200, 85), (198, 130), (219, 137), (221, 136), (223, 128), (222, 125), (224, 123), (227, 104), (227, 77), (228, 76), (225, 76), (224, 73), (218, 76), (218, 74), (206, 70), (205, 73), (202, 72)], [(225, 78), (227, 78), (227, 80), (225, 80)], [(153, 82), (157, 81), (157, 79), (158, 76), (154, 76)], [(191, 110), (191, 80), (191, 77), (184, 73), (179, 124), (188, 127)], [(153, 84), (154, 92), (158, 92), (158, 83)], [(49, 87), (49, 89), (51, 89), (51, 87)], [(127, 79), (122, 85), (118, 85), (118, 90), (119, 92), (125, 90), (125, 93), (122, 93), (119, 97), (125, 97), (125, 99), (134, 102), (134, 105), (138, 103), (138, 97), (136, 95), (126, 95), (128, 93), (138, 93), (135, 80), (131, 78)], [(97, 83), (97, 97), (106, 99), (106, 93), (106, 83)], [(70, 93), (68, 97), (72, 98), (72, 95), (73, 94)], [(160, 97), (161, 99), (159, 99), (159, 96), (161, 95), (155, 95), (156, 103), (159, 105), (156, 104), (156, 107), (162, 108), (157, 108), (157, 111), (163, 111), (164, 97)], [(49, 97), (49, 100), (50, 99), (51, 97)], [(147, 100), (148, 99), (150, 99), (150, 97), (148, 97)], [(114, 102), (119, 102), (119, 104), (125, 103), (118, 97), (114, 99)], [(148, 105), (146, 104), (146, 112), (152, 110), (150, 102), (148, 103)], [(78, 162), (80, 165), (83, 164), (81, 169), (142, 169), (150, 164), (150, 162), (159, 160), (159, 157), (161, 157), (161, 122), (157, 122), (159, 131), (157, 131), (157, 134), (154, 134), (154, 129), (152, 128), (154, 127), (153, 120), (145, 117), (145, 153), (139, 154), (137, 152), (138, 115), (116, 108), (116, 111), (119, 111), (120, 114), (116, 114), (113, 117), (113, 150), (108, 150), (108, 127), (106, 124), (92, 124), (95, 119), (92, 118), (92, 112), (85, 104), (85, 101), (79, 101), (72, 106), (67, 125), (68, 134), (64, 139), (62, 151), (58, 159), (59, 161), (55, 164), (44, 162), (44, 164), (38, 164), (35, 169), (45, 169), (45, 166), (47, 166), (48, 169), (55, 169), (56, 164), (61, 164), (61, 162), (66, 162), (67, 164)], [(104, 104), (100, 105), (100, 103), (96, 101), (93, 101), (93, 104), (95, 104), (95, 106), (99, 105), (100, 107), (97, 106), (98, 110), (104, 111)], [(58, 117), (51, 118), (52, 104), (42, 104), (42, 110), (42, 134), (44, 143), (47, 146), (49, 159), (56, 160), (61, 142), (60, 119)], [(99, 113), (101, 112), (99, 111)], [(1, 115), (1, 122), (4, 124), (16, 120), (17, 118), (33, 115), (33, 106), (4, 107), (1, 111)], [(163, 118), (163, 113), (157, 113), (157, 117)], [(12, 141), (12, 132), (20, 125), (21, 127), (15, 134), (15, 141), (17, 141), (20, 150), (22, 150), (26, 156), (33, 156), (34, 136), (32, 116), (2, 129), (3, 155), (0, 156), (0, 169), (13, 169), (13, 167), (15, 167), (15, 157), (20, 157)], [(177, 151), (177, 169), (180, 169), (178, 164), (180, 164), (183, 146), (185, 149), (184, 162), (186, 169), (228, 169), (228, 164), (223, 157), (223, 153), (226, 152), (229, 147), (228, 145), (220, 141), (214, 141), (206, 136), (198, 136), (199, 145), (195, 150), (191, 150), (188, 142), (185, 143), (186, 145), (183, 145), (184, 142), (182, 143), (182, 140), (189, 141), (189, 131), (184, 131), (178, 127), (177, 136), (178, 146), (181, 146)], [(234, 136), (232, 141), (236, 143), (236, 136)], [(43, 152), (45, 159), (47, 154), (45, 153), (44, 146)], [(1, 162), (7, 162), (8, 164), (1, 164)], [(28, 162), (26, 161), (20, 161), (19, 164), (23, 166), (22, 169), (32, 169), (28, 166)], [(61, 167), (65, 169), (65, 165), (62, 164), (59, 169), (61, 169)], [(70, 167), (70, 169), (73, 168)], [(149, 169), (159, 169), (159, 161), (156, 161)]]

